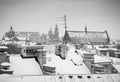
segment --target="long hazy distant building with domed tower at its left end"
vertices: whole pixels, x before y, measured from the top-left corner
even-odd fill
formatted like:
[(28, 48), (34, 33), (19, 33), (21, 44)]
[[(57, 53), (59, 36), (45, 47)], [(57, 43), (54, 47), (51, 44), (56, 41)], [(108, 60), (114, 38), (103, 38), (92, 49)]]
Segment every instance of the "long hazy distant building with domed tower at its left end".
[(6, 32), (3, 35), (2, 43), (28, 43), (28, 42), (40, 42), (39, 32), (23, 32), (23, 31), (14, 31), (10, 27), (10, 31)]

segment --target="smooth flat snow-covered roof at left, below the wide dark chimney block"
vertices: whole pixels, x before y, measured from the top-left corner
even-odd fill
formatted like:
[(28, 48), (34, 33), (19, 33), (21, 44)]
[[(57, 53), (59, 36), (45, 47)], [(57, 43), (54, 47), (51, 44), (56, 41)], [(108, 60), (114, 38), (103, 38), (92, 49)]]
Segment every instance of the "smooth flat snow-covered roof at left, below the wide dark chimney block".
[(22, 59), (20, 55), (10, 56), (10, 70), (13, 75), (42, 75), (42, 70), (34, 58)]

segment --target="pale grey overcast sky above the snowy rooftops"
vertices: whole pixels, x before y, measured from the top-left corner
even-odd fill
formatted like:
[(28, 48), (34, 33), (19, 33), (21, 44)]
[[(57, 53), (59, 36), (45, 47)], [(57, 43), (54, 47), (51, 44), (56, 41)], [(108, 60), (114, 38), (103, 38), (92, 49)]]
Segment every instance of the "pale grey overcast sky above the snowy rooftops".
[(120, 39), (120, 0), (0, 0), (0, 37), (10, 26), (15, 31), (48, 33), (58, 24), (64, 34), (62, 21), (67, 15), (69, 30), (107, 30), (110, 38)]

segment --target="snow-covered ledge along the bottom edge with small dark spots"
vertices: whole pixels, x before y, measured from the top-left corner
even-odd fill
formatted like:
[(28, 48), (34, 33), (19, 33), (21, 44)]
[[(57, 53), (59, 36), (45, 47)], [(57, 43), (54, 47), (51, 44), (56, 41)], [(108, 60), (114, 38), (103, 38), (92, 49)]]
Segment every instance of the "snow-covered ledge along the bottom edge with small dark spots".
[(120, 82), (120, 74), (1, 75), (0, 82)]

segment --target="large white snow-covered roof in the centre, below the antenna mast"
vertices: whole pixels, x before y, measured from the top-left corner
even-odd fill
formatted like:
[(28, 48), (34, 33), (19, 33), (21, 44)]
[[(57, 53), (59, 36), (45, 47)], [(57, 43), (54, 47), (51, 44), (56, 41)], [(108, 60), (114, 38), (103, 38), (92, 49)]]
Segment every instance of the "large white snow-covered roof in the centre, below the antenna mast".
[[(71, 56), (67, 57), (66, 60), (62, 60), (60, 57), (54, 54), (47, 54), (46, 58), (50, 58), (51, 61), (48, 61), (46, 66), (56, 67), (56, 74), (90, 74), (87, 66), (82, 62), (81, 58), (78, 58), (80, 57), (80, 55), (74, 56), (75, 54), (72, 53), (69, 55)], [(75, 58), (77, 59), (75, 60)], [(71, 59), (73, 60), (73, 62), (77, 63), (78, 66), (74, 65)]]

